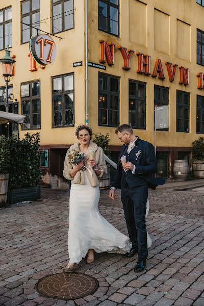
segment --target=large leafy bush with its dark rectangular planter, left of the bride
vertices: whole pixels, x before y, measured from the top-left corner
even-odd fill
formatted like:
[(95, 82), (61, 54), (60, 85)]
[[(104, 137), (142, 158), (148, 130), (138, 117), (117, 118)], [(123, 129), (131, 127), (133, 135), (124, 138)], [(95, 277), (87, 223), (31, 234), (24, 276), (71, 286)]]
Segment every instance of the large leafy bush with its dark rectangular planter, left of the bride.
[(8, 200), (11, 204), (40, 199), (39, 143), (39, 133), (27, 133), (22, 140), (9, 139), (11, 168)]

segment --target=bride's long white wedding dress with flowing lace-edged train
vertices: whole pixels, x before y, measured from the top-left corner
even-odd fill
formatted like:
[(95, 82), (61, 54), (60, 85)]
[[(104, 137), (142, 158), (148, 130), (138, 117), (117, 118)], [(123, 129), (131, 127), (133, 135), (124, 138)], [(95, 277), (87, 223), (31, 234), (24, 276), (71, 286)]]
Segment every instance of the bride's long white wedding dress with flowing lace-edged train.
[(69, 263), (78, 264), (89, 249), (96, 253), (126, 253), (130, 239), (120, 233), (98, 211), (99, 186), (91, 187), (86, 171), (85, 184), (71, 184), (69, 198)]

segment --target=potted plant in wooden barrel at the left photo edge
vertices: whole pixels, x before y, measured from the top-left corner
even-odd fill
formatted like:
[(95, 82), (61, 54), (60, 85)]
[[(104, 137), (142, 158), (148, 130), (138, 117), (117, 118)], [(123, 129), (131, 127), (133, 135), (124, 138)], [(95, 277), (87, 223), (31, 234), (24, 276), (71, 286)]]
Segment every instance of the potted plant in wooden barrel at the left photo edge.
[(9, 182), (10, 151), (8, 138), (0, 136), (0, 206), (7, 201), (7, 190)]

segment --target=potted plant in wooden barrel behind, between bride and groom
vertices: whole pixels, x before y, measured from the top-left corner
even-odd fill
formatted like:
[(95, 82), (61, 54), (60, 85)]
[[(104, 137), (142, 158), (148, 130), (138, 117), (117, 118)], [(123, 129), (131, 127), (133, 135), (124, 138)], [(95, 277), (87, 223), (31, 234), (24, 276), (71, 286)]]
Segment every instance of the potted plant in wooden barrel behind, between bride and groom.
[[(104, 150), (104, 154), (106, 154), (109, 158), (111, 155), (111, 150), (108, 147), (110, 142), (109, 134), (103, 135), (101, 133), (95, 134), (95, 138), (93, 140), (97, 144), (97, 146), (101, 147)], [(111, 166), (107, 163), (108, 173), (101, 177), (99, 182), (100, 189), (106, 189), (110, 186), (110, 177), (111, 177)]]

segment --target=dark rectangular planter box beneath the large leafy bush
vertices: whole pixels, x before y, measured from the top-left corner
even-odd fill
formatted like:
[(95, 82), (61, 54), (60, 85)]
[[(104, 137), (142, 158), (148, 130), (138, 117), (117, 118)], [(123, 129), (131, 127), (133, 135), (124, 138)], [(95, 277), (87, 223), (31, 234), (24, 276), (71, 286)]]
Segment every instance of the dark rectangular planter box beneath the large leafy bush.
[(7, 200), (10, 204), (40, 199), (40, 186), (9, 189)]

